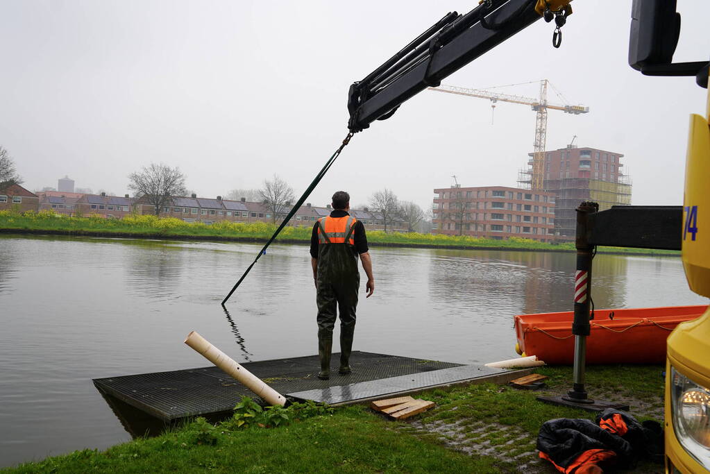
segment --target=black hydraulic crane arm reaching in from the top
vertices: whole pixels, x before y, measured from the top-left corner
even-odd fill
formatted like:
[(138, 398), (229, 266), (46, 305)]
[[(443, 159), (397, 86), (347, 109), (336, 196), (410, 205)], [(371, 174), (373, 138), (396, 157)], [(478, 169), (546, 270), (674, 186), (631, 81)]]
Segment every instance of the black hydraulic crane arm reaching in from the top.
[[(407, 99), (442, 79), (545, 17), (559, 26), (572, 9), (570, 0), (483, 0), (459, 15), (448, 13), (381, 67), (350, 87), (348, 128), (368, 128), (389, 118)], [(555, 9), (554, 11), (551, 9)], [(561, 36), (559, 37), (561, 38)]]

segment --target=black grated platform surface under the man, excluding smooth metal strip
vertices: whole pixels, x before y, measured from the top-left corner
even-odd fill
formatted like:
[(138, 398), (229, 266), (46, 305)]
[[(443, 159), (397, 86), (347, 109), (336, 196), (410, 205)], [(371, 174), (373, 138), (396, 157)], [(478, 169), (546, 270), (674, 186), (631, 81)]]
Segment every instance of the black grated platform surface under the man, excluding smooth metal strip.
[[(332, 360), (339, 360), (339, 354), (334, 353)], [(353, 351), (350, 358), (353, 373), (338, 375), (335, 368), (330, 380), (318, 380), (317, 355), (242, 365), (282, 395), (461, 366), (456, 363)], [(94, 379), (94, 385), (100, 392), (165, 421), (231, 412), (242, 396), (256, 397), (244, 385), (214, 366), (98, 378)]]

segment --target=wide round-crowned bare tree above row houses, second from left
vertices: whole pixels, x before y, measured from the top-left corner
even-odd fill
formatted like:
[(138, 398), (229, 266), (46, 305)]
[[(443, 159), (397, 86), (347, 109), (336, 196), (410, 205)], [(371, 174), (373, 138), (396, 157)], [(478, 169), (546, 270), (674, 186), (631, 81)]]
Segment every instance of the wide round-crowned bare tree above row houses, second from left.
[(178, 167), (171, 168), (167, 165), (151, 163), (143, 167), (141, 172), (132, 172), (129, 175), (129, 189), (133, 195), (145, 199), (155, 206), (155, 215), (160, 215), (160, 209), (170, 203), (170, 197), (185, 194), (185, 175)]

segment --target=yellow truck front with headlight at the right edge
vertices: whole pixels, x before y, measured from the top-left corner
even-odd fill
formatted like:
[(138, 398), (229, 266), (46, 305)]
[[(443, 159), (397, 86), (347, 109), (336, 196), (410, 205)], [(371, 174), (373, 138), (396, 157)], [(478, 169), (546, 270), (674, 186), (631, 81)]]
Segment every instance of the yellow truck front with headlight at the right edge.
[[(710, 297), (710, 94), (692, 114), (685, 165), (682, 258), (690, 289)], [(665, 387), (668, 473), (710, 470), (710, 309), (668, 337)]]

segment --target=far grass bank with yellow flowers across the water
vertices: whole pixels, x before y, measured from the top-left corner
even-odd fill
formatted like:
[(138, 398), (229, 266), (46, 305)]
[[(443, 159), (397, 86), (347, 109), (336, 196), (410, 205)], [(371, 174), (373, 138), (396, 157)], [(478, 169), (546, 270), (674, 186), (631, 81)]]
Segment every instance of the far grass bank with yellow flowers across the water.
[[(255, 222), (218, 221), (215, 224), (187, 223), (172, 217), (126, 216), (124, 219), (103, 219), (101, 217), (68, 217), (50, 211), (24, 214), (0, 211), (0, 231), (4, 233), (53, 233), (74, 236), (106, 236), (134, 238), (179, 238), (212, 241), (268, 240), (276, 226)], [(282, 243), (310, 242), (311, 228), (283, 228), (276, 241)], [(573, 252), (573, 243), (542, 243), (530, 238), (509, 238), (493, 240), (470, 236), (444, 236), (423, 233), (385, 233), (368, 231), (368, 242), (373, 246), (456, 248), (488, 250), (537, 250), (547, 252)], [(640, 248), (605, 247), (600, 253), (623, 253), (638, 255), (679, 255), (672, 250), (650, 250)]]

